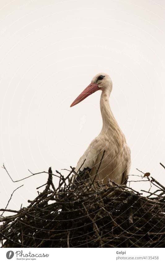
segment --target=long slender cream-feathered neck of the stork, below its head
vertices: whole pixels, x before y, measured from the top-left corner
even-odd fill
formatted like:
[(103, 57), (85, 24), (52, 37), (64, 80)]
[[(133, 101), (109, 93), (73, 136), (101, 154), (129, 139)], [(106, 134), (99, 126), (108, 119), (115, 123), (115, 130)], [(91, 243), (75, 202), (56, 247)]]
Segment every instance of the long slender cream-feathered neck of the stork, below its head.
[(124, 136), (109, 105), (109, 96), (106, 90), (102, 91), (100, 98), (100, 110), (102, 114), (102, 130), (100, 134), (106, 134), (108, 137), (113, 137), (116, 142), (121, 144), (121, 139)]

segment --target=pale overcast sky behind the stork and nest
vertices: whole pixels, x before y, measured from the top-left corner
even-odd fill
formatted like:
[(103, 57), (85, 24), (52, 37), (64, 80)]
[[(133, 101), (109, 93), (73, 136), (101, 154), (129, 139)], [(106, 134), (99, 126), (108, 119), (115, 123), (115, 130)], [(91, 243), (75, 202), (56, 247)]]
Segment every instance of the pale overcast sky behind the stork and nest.
[[(76, 166), (102, 128), (101, 92), (70, 104), (106, 72), (111, 109), (131, 148), (130, 174), (140, 175), (138, 168), (164, 183), (165, 2), (1, 0), (0, 17), (0, 164), (13, 180), (28, 169)], [(0, 206), (23, 183), (9, 208), (27, 205), (46, 180), (40, 174), (13, 183), (1, 169)]]

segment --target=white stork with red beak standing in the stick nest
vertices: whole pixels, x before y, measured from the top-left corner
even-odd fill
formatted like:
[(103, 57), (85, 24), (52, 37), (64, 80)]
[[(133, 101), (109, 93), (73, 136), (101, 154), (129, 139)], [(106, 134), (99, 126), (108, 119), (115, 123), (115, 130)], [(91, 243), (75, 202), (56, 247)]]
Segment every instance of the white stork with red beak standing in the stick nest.
[(95, 178), (96, 171), (99, 168), (96, 180), (108, 183), (109, 178), (117, 184), (126, 184), (131, 165), (130, 149), (109, 105), (109, 97), (112, 91), (112, 81), (109, 75), (99, 73), (93, 77), (89, 86), (74, 100), (70, 107), (78, 104), (97, 90), (102, 91), (100, 98), (102, 130), (89, 144), (78, 161), (75, 169), (78, 176), (73, 175), (72, 183), (80, 181), (81, 174), (84, 171), (89, 171), (90, 176)]

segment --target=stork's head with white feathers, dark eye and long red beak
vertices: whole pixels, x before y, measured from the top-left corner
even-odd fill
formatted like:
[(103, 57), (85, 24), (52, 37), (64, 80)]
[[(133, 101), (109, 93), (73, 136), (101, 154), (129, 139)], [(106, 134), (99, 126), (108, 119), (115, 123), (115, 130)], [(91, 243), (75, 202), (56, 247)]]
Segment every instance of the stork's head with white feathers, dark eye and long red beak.
[(97, 90), (102, 90), (102, 92), (106, 92), (109, 95), (111, 94), (112, 81), (108, 74), (98, 73), (96, 76), (94, 76), (88, 87), (86, 87), (86, 89), (81, 92), (81, 94), (73, 101), (70, 107), (78, 104)]

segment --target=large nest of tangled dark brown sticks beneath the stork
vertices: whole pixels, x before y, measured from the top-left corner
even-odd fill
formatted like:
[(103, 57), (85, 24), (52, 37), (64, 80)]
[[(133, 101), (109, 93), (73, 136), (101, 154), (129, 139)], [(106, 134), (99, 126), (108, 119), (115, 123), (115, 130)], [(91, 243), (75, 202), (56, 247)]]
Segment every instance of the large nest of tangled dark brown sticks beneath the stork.
[(3, 248), (164, 247), (165, 188), (154, 178), (145, 178), (157, 186), (145, 197), (112, 181), (93, 183), (88, 173), (71, 190), (71, 173), (64, 178), (58, 172), (55, 189), (51, 168), (48, 173), (45, 190), (28, 207), (1, 209), (14, 213), (0, 217)]

